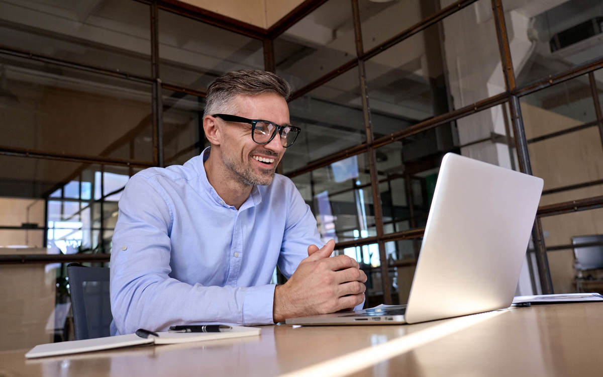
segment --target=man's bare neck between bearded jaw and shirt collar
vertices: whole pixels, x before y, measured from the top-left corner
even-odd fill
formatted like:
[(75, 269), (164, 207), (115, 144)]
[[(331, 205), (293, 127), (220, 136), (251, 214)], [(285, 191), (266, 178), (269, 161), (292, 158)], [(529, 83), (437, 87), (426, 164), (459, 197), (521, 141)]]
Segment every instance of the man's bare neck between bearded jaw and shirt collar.
[[(209, 158), (203, 163), (207, 181), (213, 189), (229, 206), (236, 209), (241, 208), (245, 200), (251, 194), (253, 186), (244, 185), (237, 177), (230, 173), (229, 169), (221, 163), (217, 153), (210, 153)], [(230, 174), (229, 174), (230, 173)]]

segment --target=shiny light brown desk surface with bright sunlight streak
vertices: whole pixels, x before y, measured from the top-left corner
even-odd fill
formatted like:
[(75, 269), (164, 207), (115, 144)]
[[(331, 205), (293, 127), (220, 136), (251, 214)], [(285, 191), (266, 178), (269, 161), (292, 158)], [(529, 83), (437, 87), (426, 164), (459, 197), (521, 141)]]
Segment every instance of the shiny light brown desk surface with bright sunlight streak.
[[(458, 322), (471, 317), (481, 319)], [(601, 374), (603, 303), (459, 318), (401, 326), (265, 326), (260, 337), (38, 360), (25, 360), (27, 350), (15, 350), (0, 352), (0, 376), (315, 376), (327, 370), (352, 376)], [(387, 356), (376, 361), (371, 350)]]

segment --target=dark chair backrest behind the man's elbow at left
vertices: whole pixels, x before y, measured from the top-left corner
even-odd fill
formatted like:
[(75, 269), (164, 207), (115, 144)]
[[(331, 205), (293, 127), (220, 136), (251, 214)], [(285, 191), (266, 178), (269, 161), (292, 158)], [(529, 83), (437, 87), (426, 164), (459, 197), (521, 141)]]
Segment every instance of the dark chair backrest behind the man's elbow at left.
[(75, 339), (108, 337), (113, 320), (109, 296), (109, 268), (67, 266)]

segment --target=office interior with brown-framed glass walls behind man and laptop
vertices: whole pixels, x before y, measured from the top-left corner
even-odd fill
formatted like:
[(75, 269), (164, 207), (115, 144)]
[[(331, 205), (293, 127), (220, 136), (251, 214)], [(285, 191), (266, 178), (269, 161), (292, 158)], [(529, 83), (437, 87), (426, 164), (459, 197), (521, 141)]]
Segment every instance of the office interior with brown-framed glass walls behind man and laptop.
[(109, 267), (128, 178), (208, 145), (234, 69), (291, 84), (279, 173), (367, 306), (408, 299), (448, 152), (545, 181), (517, 294), (603, 293), (602, 46), (599, 0), (0, 0), (0, 350), (73, 339), (66, 265)]

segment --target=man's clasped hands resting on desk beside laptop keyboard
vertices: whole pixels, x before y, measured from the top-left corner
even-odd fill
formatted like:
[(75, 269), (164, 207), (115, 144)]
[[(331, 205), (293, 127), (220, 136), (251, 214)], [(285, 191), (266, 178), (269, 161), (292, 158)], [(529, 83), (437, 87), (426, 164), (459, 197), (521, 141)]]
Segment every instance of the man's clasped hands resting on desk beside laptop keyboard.
[(274, 290), (274, 322), (303, 315), (326, 314), (353, 308), (364, 300), (367, 276), (358, 262), (347, 255), (329, 258), (335, 247), (332, 239), (322, 248), (308, 247), (285, 284)]

